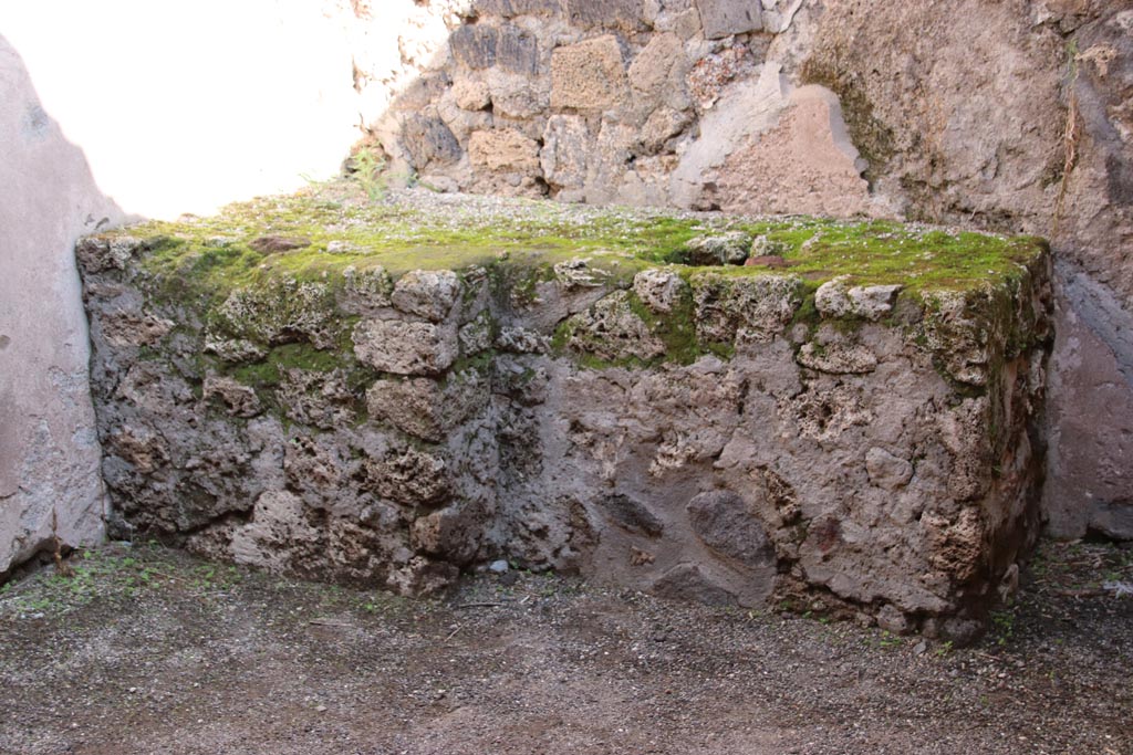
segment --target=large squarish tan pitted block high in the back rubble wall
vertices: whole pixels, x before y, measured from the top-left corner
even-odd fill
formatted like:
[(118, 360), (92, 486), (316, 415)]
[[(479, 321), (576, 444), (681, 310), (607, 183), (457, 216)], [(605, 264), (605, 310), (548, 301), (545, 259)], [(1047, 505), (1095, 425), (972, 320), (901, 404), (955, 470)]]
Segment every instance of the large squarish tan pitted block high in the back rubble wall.
[(551, 53), (551, 106), (600, 111), (622, 104), (629, 92), (625, 65), (612, 34), (556, 48)]

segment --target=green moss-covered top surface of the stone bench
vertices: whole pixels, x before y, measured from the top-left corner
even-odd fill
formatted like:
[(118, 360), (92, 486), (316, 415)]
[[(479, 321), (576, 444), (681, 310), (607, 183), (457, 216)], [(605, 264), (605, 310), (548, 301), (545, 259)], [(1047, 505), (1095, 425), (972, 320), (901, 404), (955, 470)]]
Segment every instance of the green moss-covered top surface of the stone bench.
[(579, 257), (615, 285), (646, 267), (672, 264), (684, 275), (718, 265), (726, 275), (790, 272), (816, 288), (845, 275), (855, 285), (902, 284), (914, 293), (1004, 283), (1047, 251), (1034, 237), (880, 220), (597, 208), (424, 189), (373, 200), (350, 182), (101, 238), (143, 241), (148, 273), (211, 293), (274, 277), (325, 280), (350, 267), (380, 266), (397, 278), (412, 269), (551, 267)]

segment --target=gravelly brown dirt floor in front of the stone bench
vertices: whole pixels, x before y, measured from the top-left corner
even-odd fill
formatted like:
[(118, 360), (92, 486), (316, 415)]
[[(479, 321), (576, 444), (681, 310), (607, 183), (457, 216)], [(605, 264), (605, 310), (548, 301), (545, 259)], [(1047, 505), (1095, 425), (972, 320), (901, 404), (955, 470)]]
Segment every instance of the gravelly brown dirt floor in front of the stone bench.
[[(554, 575), (411, 601), (122, 544), (0, 591), (0, 753), (1133, 753), (1133, 550), (970, 649)], [(1108, 586), (1107, 586), (1108, 585)]]

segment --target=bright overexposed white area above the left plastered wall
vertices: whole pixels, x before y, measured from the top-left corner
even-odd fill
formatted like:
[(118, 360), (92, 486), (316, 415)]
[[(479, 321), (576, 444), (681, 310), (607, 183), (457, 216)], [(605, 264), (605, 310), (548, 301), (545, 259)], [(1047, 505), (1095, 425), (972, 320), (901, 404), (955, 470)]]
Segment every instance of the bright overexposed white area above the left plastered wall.
[(360, 132), (335, 6), (3, 0), (0, 34), (101, 190), (167, 217), (338, 170)]

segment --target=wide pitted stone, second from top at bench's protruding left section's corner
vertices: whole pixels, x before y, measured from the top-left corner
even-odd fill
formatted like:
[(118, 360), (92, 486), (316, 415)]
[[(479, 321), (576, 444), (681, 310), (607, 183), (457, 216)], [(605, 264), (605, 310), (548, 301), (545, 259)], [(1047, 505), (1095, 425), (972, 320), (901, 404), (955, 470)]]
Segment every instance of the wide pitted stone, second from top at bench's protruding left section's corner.
[(454, 327), (401, 320), (361, 320), (353, 329), (355, 355), (383, 372), (436, 375), (457, 359)]

